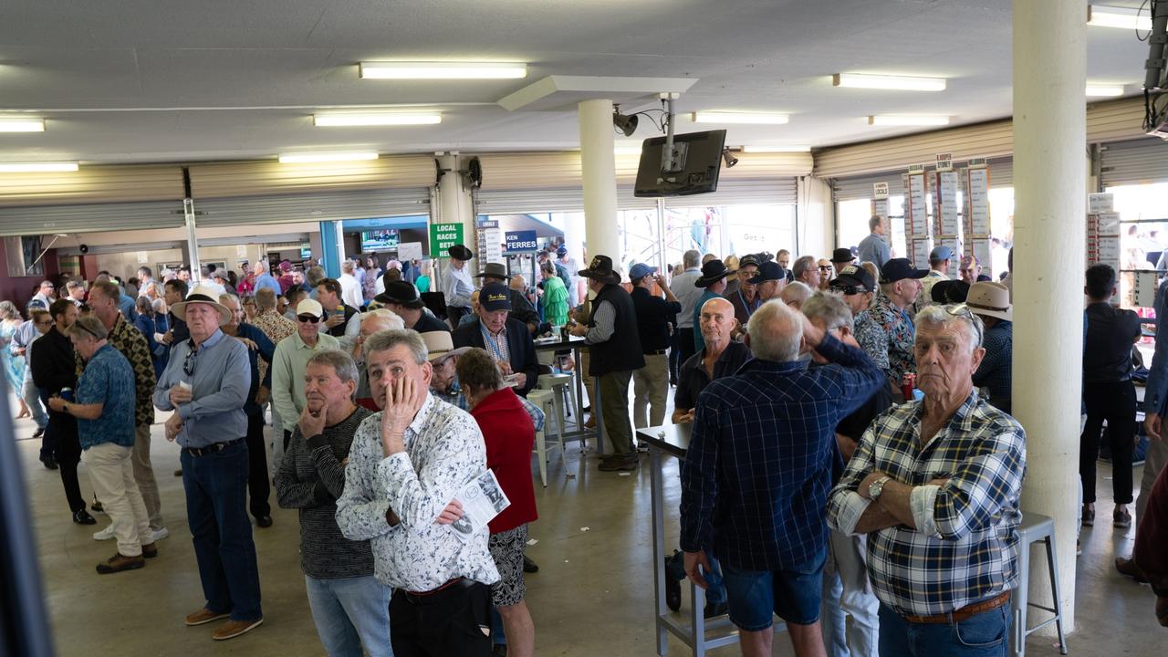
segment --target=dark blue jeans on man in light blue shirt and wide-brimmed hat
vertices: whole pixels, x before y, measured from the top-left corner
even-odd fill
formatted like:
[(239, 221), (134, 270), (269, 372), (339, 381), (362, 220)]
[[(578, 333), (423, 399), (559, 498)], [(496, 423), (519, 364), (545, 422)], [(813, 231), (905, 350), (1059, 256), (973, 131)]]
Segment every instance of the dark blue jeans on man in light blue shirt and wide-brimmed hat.
[(179, 462), (207, 609), (229, 613), (232, 621), (255, 621), (264, 613), (248, 518), (248, 444), (242, 438), (206, 456), (182, 450)]

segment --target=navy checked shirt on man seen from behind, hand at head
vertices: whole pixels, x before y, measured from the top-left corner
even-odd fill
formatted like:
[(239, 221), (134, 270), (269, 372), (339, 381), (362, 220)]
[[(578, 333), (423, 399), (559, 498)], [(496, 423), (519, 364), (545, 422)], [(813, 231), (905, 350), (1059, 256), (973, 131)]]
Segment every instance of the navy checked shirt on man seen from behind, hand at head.
[(681, 468), (681, 548), (748, 570), (793, 568), (826, 547), (835, 426), (883, 372), (830, 336), (833, 365), (750, 360), (697, 397)]

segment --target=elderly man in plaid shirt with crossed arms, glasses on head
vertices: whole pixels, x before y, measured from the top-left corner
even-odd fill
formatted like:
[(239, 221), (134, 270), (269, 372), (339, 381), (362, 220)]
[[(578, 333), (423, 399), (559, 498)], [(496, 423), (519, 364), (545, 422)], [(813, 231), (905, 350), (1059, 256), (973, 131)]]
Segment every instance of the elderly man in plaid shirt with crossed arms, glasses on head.
[(876, 419), (829, 497), (832, 527), (868, 535), (881, 655), (1009, 646), (1026, 434), (973, 390), (981, 333), (960, 306), (917, 314), (925, 397)]

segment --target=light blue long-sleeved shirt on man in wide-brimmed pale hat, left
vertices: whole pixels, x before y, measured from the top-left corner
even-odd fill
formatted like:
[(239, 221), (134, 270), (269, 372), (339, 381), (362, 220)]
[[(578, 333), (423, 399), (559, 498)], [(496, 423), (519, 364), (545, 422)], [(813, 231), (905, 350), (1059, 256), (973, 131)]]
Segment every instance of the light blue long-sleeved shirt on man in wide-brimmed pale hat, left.
[(179, 416), (182, 430), (179, 444), (202, 448), (214, 443), (242, 438), (248, 433), (248, 415), (243, 404), (251, 387), (251, 365), (248, 347), (239, 340), (228, 338), (216, 330), (196, 351), (192, 359), (192, 374), (187, 375), (183, 364), (192, 351), (192, 343), (179, 344), (171, 352), (166, 371), (154, 388), (154, 406), (162, 410), (174, 410), (171, 388), (179, 381), (192, 385), (193, 400), (180, 403)]

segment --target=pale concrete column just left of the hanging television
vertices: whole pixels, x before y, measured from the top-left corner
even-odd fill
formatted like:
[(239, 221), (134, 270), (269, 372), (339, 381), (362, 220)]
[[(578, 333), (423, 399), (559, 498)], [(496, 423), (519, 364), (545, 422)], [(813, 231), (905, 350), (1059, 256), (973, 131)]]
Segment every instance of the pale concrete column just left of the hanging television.
[[(617, 158), (613, 154), (612, 101), (579, 104), (580, 173), (584, 181), (584, 238), (588, 255), (612, 258), (619, 267), (624, 254), (617, 231)], [(588, 267), (588, 262), (580, 262)]]

